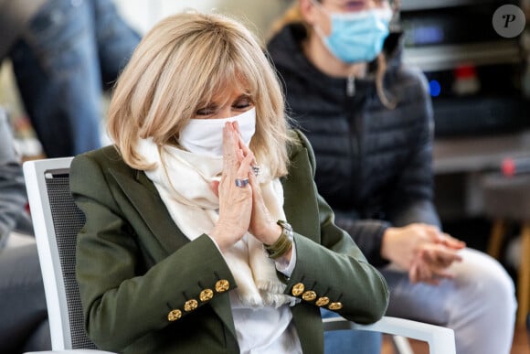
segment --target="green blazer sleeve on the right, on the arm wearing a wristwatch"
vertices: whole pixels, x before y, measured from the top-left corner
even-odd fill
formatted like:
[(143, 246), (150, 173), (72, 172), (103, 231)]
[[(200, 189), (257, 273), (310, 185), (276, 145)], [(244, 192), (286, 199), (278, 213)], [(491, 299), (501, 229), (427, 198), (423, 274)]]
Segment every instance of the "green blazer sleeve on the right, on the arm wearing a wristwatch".
[[(300, 136), (314, 174), (313, 150)], [(334, 224), (333, 210), (318, 194), (313, 180), (312, 183), (320, 232), (311, 236), (295, 232), (296, 265), (287, 280), (286, 292), (357, 323), (375, 322), (387, 310), (387, 283), (366, 262), (355, 241)]]

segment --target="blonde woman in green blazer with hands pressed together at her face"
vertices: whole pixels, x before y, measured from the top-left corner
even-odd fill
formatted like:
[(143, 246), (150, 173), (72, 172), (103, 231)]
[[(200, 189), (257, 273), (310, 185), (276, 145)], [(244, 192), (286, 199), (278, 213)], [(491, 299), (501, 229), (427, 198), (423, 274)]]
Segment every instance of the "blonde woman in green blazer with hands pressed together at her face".
[(77, 279), (89, 337), (125, 353), (322, 353), (319, 309), (361, 323), (387, 284), (334, 225), (257, 40), (168, 17), (115, 87), (113, 146), (77, 156)]

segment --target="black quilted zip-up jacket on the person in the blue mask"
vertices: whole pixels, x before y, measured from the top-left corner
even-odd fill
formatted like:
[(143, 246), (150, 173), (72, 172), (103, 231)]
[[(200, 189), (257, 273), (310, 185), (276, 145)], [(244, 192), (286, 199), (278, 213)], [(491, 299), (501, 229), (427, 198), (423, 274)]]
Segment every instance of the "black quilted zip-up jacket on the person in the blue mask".
[[(426, 80), (403, 67), (400, 40), (391, 35), (385, 80), (389, 110), (367, 79), (332, 78), (303, 55), (301, 25), (283, 27), (268, 50), (285, 85), (288, 112), (311, 141), (316, 183), (370, 263), (383, 265), (383, 232), (410, 222), (439, 225), (432, 204), (433, 120)], [(371, 65), (373, 67), (373, 65)], [(374, 68), (371, 68), (374, 69)]]

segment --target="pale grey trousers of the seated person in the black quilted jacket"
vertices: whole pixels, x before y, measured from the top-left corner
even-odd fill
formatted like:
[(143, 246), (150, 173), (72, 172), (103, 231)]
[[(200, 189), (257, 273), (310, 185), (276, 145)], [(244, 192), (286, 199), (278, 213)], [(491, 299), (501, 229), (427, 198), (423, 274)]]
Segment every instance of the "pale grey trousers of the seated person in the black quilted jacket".
[(451, 265), (454, 279), (410, 284), (408, 274), (382, 269), (390, 287), (387, 316), (454, 330), (457, 354), (509, 354), (517, 300), (514, 282), (489, 255), (466, 248)]

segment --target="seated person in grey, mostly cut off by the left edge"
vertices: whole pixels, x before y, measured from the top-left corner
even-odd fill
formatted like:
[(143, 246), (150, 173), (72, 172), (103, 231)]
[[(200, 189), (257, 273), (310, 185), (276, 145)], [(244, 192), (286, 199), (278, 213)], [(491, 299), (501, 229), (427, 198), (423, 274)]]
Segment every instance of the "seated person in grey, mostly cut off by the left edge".
[(22, 166), (0, 108), (0, 352), (6, 354), (51, 349), (37, 245), (6, 246), (14, 231), (33, 233), (26, 203)]

